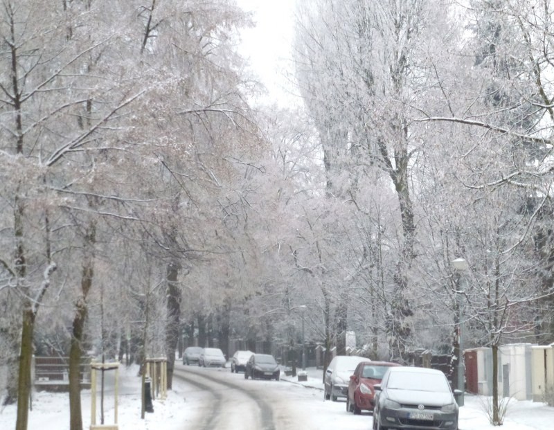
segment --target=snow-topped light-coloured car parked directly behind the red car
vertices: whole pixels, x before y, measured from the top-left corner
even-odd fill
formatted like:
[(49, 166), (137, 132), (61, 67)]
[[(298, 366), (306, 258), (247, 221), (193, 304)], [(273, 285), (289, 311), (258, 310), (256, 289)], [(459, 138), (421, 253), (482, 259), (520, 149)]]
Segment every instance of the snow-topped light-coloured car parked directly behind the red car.
[(348, 382), (350, 375), (354, 374), (356, 366), (362, 361), (370, 361), (366, 357), (357, 355), (337, 355), (334, 357), (323, 378), (323, 397), (337, 402), (338, 397), (348, 396)]

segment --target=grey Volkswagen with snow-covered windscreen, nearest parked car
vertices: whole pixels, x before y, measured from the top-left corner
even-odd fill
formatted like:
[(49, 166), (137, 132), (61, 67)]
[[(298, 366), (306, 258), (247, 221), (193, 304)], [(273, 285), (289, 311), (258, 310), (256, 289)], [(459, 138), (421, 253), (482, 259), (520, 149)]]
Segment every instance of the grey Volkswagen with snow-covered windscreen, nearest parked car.
[(417, 367), (391, 367), (375, 384), (373, 430), (457, 430), (458, 404), (443, 372)]

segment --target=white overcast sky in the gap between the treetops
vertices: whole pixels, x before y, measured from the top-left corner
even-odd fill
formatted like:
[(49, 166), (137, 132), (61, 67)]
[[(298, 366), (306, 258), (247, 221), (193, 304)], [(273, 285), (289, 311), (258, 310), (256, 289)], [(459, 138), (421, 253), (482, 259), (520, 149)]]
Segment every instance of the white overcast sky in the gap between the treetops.
[(242, 32), (242, 54), (271, 96), (285, 97), (286, 73), (292, 73), (290, 44), (296, 0), (237, 0), (238, 6), (254, 12), (255, 28)]

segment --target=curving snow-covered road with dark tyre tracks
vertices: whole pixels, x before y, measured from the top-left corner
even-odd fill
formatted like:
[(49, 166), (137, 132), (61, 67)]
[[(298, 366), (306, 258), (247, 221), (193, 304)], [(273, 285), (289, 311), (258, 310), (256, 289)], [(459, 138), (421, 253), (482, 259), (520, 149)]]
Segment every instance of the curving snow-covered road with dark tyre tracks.
[(183, 430), (358, 430), (372, 423), (369, 414), (346, 413), (346, 402), (324, 402), (321, 390), (285, 380), (244, 379), (229, 369), (196, 366), (179, 366), (175, 376), (196, 414)]

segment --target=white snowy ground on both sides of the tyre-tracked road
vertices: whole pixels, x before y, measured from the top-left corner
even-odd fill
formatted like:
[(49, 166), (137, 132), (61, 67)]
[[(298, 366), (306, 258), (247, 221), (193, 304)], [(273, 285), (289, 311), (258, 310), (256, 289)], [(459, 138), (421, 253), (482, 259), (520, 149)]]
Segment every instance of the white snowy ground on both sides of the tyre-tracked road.
[[(120, 395), (118, 404), (118, 424), (120, 429), (133, 430), (187, 430), (194, 422), (198, 413), (198, 388), (174, 382), (174, 390), (168, 393), (166, 400), (154, 400), (154, 413), (147, 413), (141, 420), (141, 379), (136, 376), (136, 367), (120, 370)], [(212, 369), (215, 370), (215, 369)], [(227, 370), (229, 371), (229, 370)], [(310, 404), (312, 429), (337, 430), (353, 429), (368, 430), (371, 428), (372, 418), (368, 413), (353, 416), (346, 412), (345, 402), (323, 401), (323, 384), (321, 384), (321, 370), (308, 369), (307, 382), (297, 382), (296, 378), (283, 376), (280, 382), (273, 384), (287, 384), (289, 389), (295, 390), (295, 395), (305, 397)], [(238, 376), (238, 375), (237, 375)], [(262, 382), (263, 383), (263, 382)], [(109, 391), (109, 390), (108, 390)], [(112, 424), (114, 420), (114, 397), (109, 393), (105, 399), (105, 424)], [(493, 429), (488, 424), (483, 403), (486, 399), (480, 396), (466, 395), (465, 406), (460, 409), (461, 430)], [(99, 409), (99, 406), (97, 406)], [(89, 428), (91, 417), (90, 391), (82, 393), (83, 425)], [(6, 406), (0, 409), (0, 429), (15, 429), (16, 408)], [(100, 424), (100, 420), (97, 420)], [(508, 406), (508, 413), (502, 430), (534, 430), (554, 428), (554, 408), (542, 403), (517, 402), (512, 400)], [(33, 411), (29, 415), (28, 429), (63, 430), (69, 429), (69, 399), (63, 393), (39, 392), (33, 396)], [(306, 427), (302, 427), (303, 430)], [(235, 430), (235, 429), (229, 429)], [(258, 429), (244, 429), (258, 430)]]

